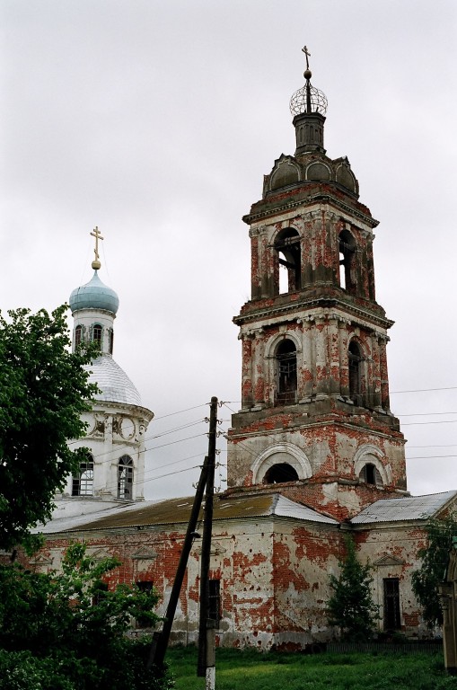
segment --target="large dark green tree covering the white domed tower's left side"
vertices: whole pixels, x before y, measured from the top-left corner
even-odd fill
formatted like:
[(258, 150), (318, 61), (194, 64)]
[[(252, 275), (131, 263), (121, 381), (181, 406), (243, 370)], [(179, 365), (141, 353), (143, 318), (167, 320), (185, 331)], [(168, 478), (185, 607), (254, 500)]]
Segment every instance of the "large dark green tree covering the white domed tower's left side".
[(81, 413), (96, 385), (88, 383), (92, 350), (71, 352), (66, 305), (0, 314), (0, 548), (24, 543), (46, 521), (56, 491), (77, 471), (84, 450)]

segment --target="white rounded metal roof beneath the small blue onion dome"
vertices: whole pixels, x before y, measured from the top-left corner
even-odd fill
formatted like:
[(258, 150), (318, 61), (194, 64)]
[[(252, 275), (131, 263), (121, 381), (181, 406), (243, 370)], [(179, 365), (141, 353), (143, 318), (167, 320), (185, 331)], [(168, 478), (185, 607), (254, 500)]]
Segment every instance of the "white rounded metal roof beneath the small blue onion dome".
[(91, 371), (89, 382), (97, 384), (101, 391), (94, 396), (95, 400), (141, 405), (141, 398), (135, 385), (110, 355), (101, 355), (87, 368)]

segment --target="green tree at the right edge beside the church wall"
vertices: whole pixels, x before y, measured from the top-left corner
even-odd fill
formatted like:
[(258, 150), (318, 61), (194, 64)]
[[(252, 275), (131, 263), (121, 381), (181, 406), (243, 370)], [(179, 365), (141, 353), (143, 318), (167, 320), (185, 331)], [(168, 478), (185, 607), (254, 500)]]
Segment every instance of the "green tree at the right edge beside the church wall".
[(425, 527), (426, 546), (417, 553), (420, 568), (414, 571), (412, 589), (422, 606), (427, 627), (443, 624), (443, 611), (438, 597), (438, 585), (443, 582), (453, 536), (457, 536), (457, 515), (451, 513), (442, 519), (430, 519)]

